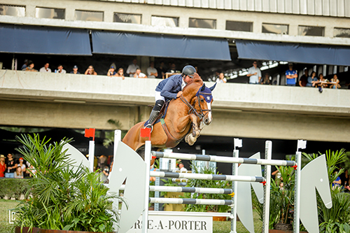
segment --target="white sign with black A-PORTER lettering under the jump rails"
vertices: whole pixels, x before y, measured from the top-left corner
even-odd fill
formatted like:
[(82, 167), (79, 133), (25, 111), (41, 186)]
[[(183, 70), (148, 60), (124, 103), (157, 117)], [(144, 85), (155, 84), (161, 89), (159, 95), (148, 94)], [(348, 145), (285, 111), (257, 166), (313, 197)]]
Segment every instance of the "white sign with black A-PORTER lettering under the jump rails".
[[(142, 216), (127, 233), (141, 233)], [(211, 216), (148, 216), (148, 232), (213, 232)]]

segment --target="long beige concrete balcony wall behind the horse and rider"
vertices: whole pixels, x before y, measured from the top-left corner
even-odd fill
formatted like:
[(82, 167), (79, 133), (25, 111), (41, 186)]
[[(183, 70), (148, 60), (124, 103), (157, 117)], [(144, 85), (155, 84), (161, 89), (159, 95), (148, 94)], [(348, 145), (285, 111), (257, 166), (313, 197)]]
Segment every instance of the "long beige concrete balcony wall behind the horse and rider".
[[(121, 129), (146, 120), (160, 80), (0, 71), (0, 125)], [(207, 83), (211, 86), (213, 83)], [(218, 84), (204, 135), (350, 142), (350, 92)]]

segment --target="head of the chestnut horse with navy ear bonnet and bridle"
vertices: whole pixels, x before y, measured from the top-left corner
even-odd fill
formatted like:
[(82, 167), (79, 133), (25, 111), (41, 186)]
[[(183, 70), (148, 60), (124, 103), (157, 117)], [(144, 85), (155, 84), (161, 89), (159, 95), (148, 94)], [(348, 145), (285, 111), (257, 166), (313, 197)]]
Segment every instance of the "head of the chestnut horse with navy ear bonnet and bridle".
[[(206, 87), (205, 84), (195, 94), (193, 101), (195, 102), (195, 108), (200, 113), (201, 122), (205, 125), (209, 125), (213, 117), (211, 115), (211, 103), (213, 102), (213, 95), (211, 91), (214, 90), (216, 84), (212, 87)], [(196, 104), (196, 102), (198, 104)]]

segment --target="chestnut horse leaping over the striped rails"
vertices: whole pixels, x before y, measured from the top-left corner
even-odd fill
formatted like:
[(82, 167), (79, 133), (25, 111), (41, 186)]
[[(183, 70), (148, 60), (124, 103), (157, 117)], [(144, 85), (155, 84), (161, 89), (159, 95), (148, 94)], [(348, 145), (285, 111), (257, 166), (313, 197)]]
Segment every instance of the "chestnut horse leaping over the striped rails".
[[(209, 125), (211, 120), (211, 103), (213, 87), (206, 87), (202, 78), (195, 73), (191, 83), (183, 88), (180, 98), (172, 99), (167, 108), (167, 114), (161, 122), (153, 125), (151, 141), (153, 148), (174, 148), (185, 137), (185, 141), (192, 146), (204, 125)], [(140, 136), (140, 129), (144, 128), (145, 122), (134, 125), (125, 135), (123, 143), (135, 151), (144, 146), (148, 138)], [(192, 132), (190, 132), (192, 127)], [(142, 155), (141, 155), (142, 157)]]

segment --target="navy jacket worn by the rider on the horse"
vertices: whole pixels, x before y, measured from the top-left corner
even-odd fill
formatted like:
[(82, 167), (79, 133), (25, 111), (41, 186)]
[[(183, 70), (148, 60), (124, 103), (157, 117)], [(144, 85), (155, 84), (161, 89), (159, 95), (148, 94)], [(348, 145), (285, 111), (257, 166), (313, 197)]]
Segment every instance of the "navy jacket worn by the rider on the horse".
[(181, 91), (181, 85), (182, 76), (181, 74), (176, 74), (170, 78), (162, 80), (162, 82), (155, 87), (155, 90), (160, 92), (160, 95), (165, 97), (165, 99), (176, 99), (177, 92)]

